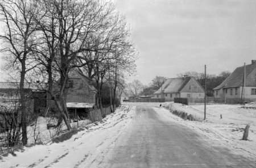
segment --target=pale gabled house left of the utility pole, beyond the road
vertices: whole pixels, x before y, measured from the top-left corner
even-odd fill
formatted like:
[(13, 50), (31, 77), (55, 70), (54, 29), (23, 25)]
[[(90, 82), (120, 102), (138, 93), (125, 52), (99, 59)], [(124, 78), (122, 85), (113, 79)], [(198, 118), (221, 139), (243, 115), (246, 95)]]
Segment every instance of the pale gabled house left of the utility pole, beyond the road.
[(204, 89), (194, 77), (170, 78), (154, 93), (154, 98), (204, 98)]

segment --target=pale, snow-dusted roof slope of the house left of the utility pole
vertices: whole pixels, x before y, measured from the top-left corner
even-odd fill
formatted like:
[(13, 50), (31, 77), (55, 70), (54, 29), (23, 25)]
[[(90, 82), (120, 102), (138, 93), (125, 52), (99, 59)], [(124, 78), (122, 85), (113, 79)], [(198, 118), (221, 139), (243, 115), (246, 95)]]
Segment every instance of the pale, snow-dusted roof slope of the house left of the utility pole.
[(192, 77), (167, 79), (163, 86), (154, 94), (162, 94), (162, 91), (163, 93), (179, 93), (191, 78)]

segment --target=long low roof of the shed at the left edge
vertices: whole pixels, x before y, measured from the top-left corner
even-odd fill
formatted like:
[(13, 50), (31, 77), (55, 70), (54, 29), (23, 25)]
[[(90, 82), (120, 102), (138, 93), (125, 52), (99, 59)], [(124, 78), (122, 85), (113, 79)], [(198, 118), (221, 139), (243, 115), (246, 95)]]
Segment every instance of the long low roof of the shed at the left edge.
[[(0, 82), (0, 89), (19, 89), (19, 82)], [(47, 90), (47, 83), (24, 82), (24, 89)]]

